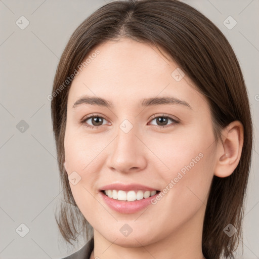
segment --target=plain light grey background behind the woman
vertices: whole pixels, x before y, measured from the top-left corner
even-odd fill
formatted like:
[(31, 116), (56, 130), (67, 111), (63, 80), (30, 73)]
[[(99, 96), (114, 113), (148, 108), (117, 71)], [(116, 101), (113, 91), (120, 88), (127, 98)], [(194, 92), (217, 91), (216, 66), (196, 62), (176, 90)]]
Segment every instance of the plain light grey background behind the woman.
[[(247, 84), (258, 137), (259, 1), (183, 2), (201, 11), (230, 41)], [(79, 241), (74, 249), (66, 247), (54, 218), (62, 190), (47, 96), (68, 38), (105, 3), (108, 1), (0, 0), (2, 259), (61, 258), (83, 245)], [(29, 21), (23, 30), (16, 24), (21, 16)], [(237, 21), (232, 29), (224, 25), (229, 16)], [(22, 19), (20, 26), (25, 25)], [(233, 25), (233, 20), (228, 23)], [(259, 159), (258, 142), (254, 143), (243, 228), (243, 257), (247, 259), (259, 258)], [(20, 236), (26, 233), (22, 223), (29, 229), (24, 237)], [(237, 253), (236, 258), (243, 257)]]

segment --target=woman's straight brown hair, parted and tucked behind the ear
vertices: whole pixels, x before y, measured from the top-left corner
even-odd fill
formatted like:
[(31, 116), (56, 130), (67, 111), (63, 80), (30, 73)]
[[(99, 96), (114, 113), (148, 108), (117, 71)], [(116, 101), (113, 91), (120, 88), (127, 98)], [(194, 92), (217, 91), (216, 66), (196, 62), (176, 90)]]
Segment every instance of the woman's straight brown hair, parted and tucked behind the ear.
[[(199, 92), (207, 97), (216, 141), (230, 122), (242, 122), (244, 142), (239, 164), (229, 177), (213, 176), (202, 234), (202, 252), (207, 259), (218, 259), (220, 255), (233, 258), (239, 238), (242, 240), (243, 205), (252, 152), (253, 132), (245, 82), (235, 53), (219, 28), (194, 8), (176, 0), (106, 4), (77, 27), (65, 47), (51, 102), (65, 201), (61, 203), (58, 219), (55, 214), (61, 234), (69, 243), (77, 240), (80, 231), (87, 239), (93, 235), (93, 228), (73, 199), (63, 167), (67, 99), (72, 81), (67, 78), (98, 45), (122, 36), (162, 48), (192, 79)], [(232, 237), (223, 231), (228, 224), (237, 229)]]

